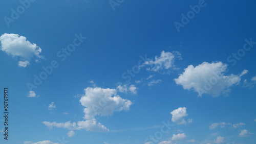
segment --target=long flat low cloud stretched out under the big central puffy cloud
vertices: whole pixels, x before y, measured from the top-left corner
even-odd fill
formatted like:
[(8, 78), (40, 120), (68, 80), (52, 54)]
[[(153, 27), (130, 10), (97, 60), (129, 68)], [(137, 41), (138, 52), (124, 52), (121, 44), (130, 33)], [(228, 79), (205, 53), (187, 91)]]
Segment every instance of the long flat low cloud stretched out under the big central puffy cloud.
[(77, 123), (56, 123), (56, 122), (42, 122), (49, 128), (65, 128), (68, 130), (81, 130), (84, 129), (86, 131), (96, 131), (96, 132), (109, 132), (110, 130), (103, 126), (101, 123), (98, 123), (95, 118), (87, 120), (87, 121), (78, 121)]

